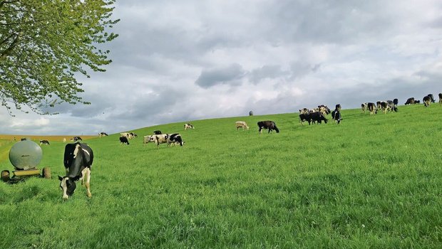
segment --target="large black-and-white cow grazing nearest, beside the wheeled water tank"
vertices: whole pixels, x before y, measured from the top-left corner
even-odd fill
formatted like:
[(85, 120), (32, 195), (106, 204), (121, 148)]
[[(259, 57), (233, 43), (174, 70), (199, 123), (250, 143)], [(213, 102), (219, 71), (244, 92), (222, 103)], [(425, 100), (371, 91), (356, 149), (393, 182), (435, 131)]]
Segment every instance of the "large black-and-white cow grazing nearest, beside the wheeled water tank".
[[(76, 181), (81, 179), (81, 185), (86, 186), (86, 195), (91, 197), (91, 165), (93, 152), (87, 144), (75, 142), (66, 144), (64, 148), (63, 164), (66, 169), (66, 176), (58, 176), (61, 181), (60, 187), (63, 190), (63, 199), (67, 200), (73, 195), (76, 189)], [(85, 183), (86, 181), (86, 183)]]

